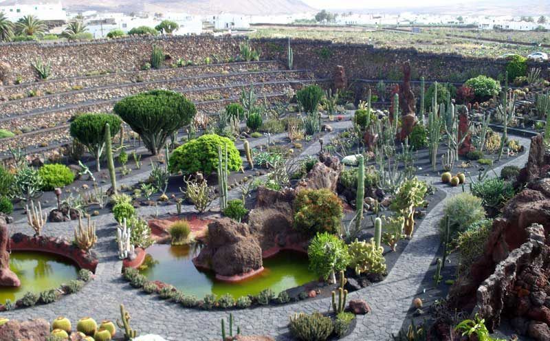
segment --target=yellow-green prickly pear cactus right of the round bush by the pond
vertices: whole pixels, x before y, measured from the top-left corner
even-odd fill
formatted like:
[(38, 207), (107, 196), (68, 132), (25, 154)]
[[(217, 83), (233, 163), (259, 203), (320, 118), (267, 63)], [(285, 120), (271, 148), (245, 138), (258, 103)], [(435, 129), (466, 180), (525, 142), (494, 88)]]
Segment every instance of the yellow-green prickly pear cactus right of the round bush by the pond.
[(358, 241), (355, 239), (349, 244), (349, 267), (355, 270), (356, 274), (384, 274), (386, 272), (386, 260), (382, 255), (384, 248), (377, 248), (371, 240)]

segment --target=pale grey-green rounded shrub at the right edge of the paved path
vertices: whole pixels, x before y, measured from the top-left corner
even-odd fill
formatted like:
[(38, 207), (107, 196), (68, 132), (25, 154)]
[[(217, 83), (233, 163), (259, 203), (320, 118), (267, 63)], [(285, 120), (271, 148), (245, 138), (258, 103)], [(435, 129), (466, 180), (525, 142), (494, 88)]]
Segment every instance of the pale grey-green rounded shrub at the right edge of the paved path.
[(485, 209), (480, 198), (462, 192), (448, 199), (443, 209), (443, 218), (439, 223), (441, 233), (445, 231), (447, 217), (450, 223), (450, 239), (456, 238), (472, 223), (485, 218)]

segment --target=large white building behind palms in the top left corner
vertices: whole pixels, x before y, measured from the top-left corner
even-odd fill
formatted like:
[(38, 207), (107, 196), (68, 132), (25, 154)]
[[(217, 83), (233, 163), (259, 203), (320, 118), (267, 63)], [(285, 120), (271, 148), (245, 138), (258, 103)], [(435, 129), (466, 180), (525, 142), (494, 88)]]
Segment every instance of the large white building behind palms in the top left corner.
[(66, 21), (60, 0), (0, 0), (0, 12), (10, 21), (32, 15), (43, 21)]

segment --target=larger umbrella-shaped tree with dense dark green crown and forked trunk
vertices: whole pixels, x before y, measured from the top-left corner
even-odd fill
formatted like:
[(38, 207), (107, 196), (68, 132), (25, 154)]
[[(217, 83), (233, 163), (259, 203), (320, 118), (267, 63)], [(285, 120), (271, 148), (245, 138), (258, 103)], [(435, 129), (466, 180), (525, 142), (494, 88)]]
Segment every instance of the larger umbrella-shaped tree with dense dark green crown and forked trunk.
[(156, 155), (164, 147), (167, 137), (190, 124), (197, 108), (177, 92), (153, 90), (120, 100), (113, 111), (140, 135), (146, 148)]

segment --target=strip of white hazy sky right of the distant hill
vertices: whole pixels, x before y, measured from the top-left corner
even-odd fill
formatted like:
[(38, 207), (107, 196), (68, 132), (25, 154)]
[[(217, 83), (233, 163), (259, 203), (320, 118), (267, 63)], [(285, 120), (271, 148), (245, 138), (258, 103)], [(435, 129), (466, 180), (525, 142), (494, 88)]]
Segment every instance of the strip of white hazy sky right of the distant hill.
[[(326, 9), (344, 9), (344, 8), (397, 8), (399, 6), (410, 7), (423, 7), (427, 5), (445, 5), (447, 1), (441, 0), (386, 0), (386, 1), (373, 1), (373, 0), (303, 0), (305, 3), (314, 8), (326, 8)], [(461, 0), (461, 3), (474, 2), (476, 0)]]

